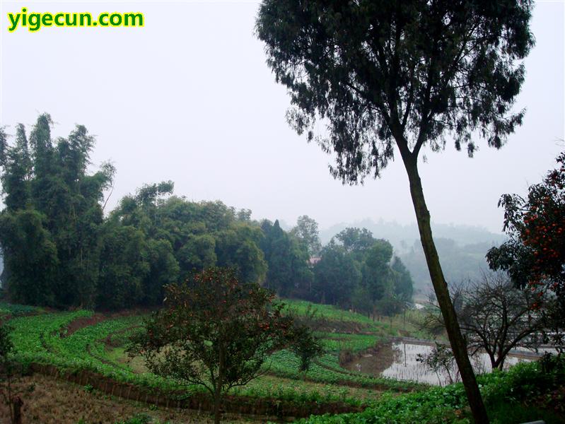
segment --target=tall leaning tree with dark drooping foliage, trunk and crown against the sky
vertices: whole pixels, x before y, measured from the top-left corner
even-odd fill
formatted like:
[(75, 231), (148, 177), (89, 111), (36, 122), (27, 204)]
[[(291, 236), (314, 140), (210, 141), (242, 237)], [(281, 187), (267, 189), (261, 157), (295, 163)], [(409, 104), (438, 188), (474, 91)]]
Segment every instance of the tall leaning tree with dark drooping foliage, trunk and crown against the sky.
[[(530, 0), (263, 0), (257, 36), (267, 64), (289, 90), (289, 122), (334, 151), (332, 175), (356, 184), (380, 175), (397, 146), (420, 238), (474, 420), (487, 413), (433, 244), (418, 171), (424, 146), (471, 135), (500, 148), (522, 122), (511, 107), (533, 45)], [(327, 134), (314, 134), (316, 123)]]

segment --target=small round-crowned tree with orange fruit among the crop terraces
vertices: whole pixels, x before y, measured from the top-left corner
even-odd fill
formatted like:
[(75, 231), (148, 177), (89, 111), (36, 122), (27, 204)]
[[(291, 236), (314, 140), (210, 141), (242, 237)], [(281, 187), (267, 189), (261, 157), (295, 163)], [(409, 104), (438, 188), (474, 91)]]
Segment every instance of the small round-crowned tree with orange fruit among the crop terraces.
[(211, 268), (165, 288), (165, 308), (134, 336), (130, 355), (141, 354), (157, 375), (205, 387), (220, 421), (223, 395), (262, 372), (267, 354), (290, 347), (302, 370), (321, 352), (308, 329), (282, 314), (283, 304), (256, 283), (241, 283), (233, 269)]

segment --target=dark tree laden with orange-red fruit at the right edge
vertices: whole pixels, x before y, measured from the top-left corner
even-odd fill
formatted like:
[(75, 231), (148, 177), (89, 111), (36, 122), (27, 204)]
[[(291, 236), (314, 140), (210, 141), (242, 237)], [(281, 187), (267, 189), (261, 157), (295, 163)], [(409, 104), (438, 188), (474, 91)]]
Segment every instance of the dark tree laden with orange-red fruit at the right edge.
[(529, 187), (527, 199), (501, 197), (503, 230), (510, 240), (490, 249), (487, 261), (492, 269), (507, 271), (518, 287), (556, 295), (554, 307), (542, 312), (559, 345), (565, 325), (565, 151), (557, 164), (541, 183)]

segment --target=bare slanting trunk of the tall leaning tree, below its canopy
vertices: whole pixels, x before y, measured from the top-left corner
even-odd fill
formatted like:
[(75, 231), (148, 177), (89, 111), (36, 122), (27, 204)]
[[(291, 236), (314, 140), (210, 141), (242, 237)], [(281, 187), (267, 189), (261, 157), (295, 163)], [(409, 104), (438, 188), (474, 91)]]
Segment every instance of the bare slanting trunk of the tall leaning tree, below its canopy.
[(489, 423), (487, 410), (484, 408), (477, 379), (474, 377), (473, 368), (467, 352), (467, 345), (459, 328), (457, 314), (455, 314), (455, 308), (453, 307), (453, 302), (451, 302), (448, 285), (445, 283), (436, 245), (431, 235), (430, 213), (426, 206), (426, 200), (424, 199), (424, 190), (421, 187), (417, 157), (412, 155), (404, 157), (403, 155), (402, 160), (408, 173), (412, 204), (414, 204), (414, 211), (416, 212), (421, 245), (426, 256), (426, 263), (428, 264), (433, 290), (436, 292), (441, 314), (443, 315), (443, 321), (445, 322), (445, 329), (448, 333), (455, 361), (459, 367), (461, 380), (465, 387), (465, 393), (467, 394), (474, 422), (477, 424), (487, 424)]

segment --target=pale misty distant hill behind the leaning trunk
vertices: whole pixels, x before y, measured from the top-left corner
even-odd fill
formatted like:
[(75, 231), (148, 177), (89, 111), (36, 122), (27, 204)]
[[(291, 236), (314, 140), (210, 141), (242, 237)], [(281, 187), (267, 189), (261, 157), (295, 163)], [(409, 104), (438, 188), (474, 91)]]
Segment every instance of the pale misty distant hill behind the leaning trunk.
[[(445, 225), (432, 223), (432, 231), (440, 257), (445, 279), (458, 282), (477, 278), (481, 270), (488, 269), (484, 255), (506, 240), (503, 234), (490, 232), (486, 228), (472, 225)], [(431, 290), (426, 259), (421, 248), (417, 225), (402, 225), (395, 222), (371, 219), (355, 223), (340, 223), (320, 231), (320, 240), (325, 244), (347, 227), (367, 228), (376, 238), (388, 240), (412, 274), (415, 287), (423, 293)]]

